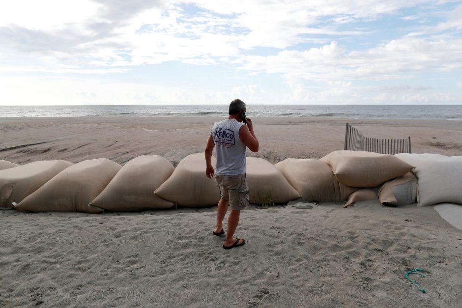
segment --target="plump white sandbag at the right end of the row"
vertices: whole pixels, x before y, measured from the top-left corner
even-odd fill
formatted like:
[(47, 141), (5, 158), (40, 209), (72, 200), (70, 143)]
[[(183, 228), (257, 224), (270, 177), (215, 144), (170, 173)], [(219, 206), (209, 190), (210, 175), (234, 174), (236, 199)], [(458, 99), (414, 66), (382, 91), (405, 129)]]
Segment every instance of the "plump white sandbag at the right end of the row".
[(462, 204), (462, 157), (400, 153), (395, 156), (415, 166), (417, 206), (449, 202)]

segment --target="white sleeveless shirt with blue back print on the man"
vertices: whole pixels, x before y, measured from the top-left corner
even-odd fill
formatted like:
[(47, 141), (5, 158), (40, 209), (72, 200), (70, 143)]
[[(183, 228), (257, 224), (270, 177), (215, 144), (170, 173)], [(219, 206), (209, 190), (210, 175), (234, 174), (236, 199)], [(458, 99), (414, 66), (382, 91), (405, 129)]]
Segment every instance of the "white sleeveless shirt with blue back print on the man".
[(239, 129), (245, 125), (236, 119), (216, 123), (212, 138), (217, 151), (217, 175), (238, 175), (245, 173), (246, 145), (239, 138)]

